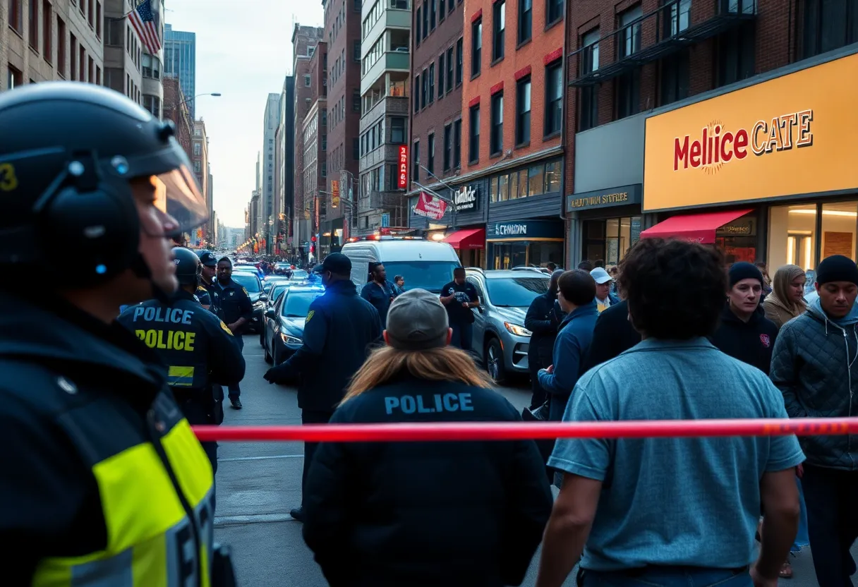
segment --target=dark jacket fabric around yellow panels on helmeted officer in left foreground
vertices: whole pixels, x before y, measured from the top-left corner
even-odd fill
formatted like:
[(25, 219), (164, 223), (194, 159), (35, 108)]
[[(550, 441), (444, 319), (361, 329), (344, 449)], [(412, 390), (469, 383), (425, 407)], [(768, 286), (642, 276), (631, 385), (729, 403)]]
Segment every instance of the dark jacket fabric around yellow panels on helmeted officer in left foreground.
[(0, 292), (0, 307), (0, 568), (3, 584), (28, 585), (43, 558), (106, 548), (88, 463), (159, 445), (171, 428), (157, 432), (152, 422), (178, 408), (158, 355), (119, 324), (63, 300)]

